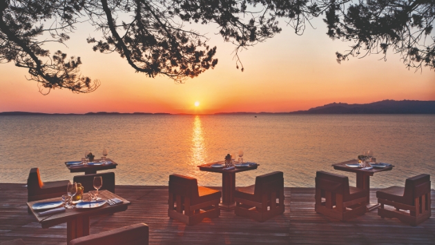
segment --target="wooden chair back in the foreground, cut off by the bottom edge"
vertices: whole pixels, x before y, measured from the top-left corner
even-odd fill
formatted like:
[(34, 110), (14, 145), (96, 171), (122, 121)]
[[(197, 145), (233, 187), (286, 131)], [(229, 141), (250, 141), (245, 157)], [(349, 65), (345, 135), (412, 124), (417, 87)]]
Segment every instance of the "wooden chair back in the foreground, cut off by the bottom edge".
[(148, 245), (149, 229), (146, 224), (133, 224), (71, 240), (69, 245)]

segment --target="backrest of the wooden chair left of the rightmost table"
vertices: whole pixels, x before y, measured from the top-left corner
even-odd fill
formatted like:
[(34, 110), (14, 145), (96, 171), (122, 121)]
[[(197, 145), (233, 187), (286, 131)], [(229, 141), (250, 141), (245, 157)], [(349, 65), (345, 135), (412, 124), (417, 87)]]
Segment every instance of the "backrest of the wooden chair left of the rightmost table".
[(325, 171), (316, 172), (316, 188), (343, 196), (350, 195), (349, 178), (347, 176), (327, 173)]

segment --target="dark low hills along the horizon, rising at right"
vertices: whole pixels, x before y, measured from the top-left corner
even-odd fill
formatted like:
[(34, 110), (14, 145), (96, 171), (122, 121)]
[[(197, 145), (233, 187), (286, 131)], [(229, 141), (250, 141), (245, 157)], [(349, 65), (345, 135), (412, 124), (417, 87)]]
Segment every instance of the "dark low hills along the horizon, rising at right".
[[(318, 106), (309, 110), (298, 110), (294, 112), (218, 112), (214, 115), (312, 115), (312, 114), (435, 114), (435, 101), (401, 100), (395, 101), (386, 99), (369, 104), (347, 104), (331, 103), (325, 106)], [(150, 112), (88, 112), (85, 114), (61, 114), (41, 112), (0, 112), (1, 115), (172, 115), (171, 113), (150, 113)], [(176, 115), (191, 115), (180, 113)]]

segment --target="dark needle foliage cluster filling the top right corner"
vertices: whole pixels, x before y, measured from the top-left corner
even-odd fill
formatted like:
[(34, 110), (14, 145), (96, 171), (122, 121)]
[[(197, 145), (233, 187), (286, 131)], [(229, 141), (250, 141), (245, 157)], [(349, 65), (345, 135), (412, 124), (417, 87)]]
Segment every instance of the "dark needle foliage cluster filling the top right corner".
[(400, 53), (408, 68), (435, 68), (434, 0), (328, 1), (325, 23), (332, 39), (354, 41), (351, 50), (337, 52), (337, 61), (349, 56)]

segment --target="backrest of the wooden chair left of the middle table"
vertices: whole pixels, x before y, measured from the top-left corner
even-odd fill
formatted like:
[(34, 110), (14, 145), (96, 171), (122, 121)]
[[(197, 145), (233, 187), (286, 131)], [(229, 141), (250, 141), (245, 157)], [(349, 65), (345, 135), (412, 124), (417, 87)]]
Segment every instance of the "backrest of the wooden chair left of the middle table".
[(183, 175), (169, 175), (169, 192), (183, 197), (199, 197), (197, 179)]

